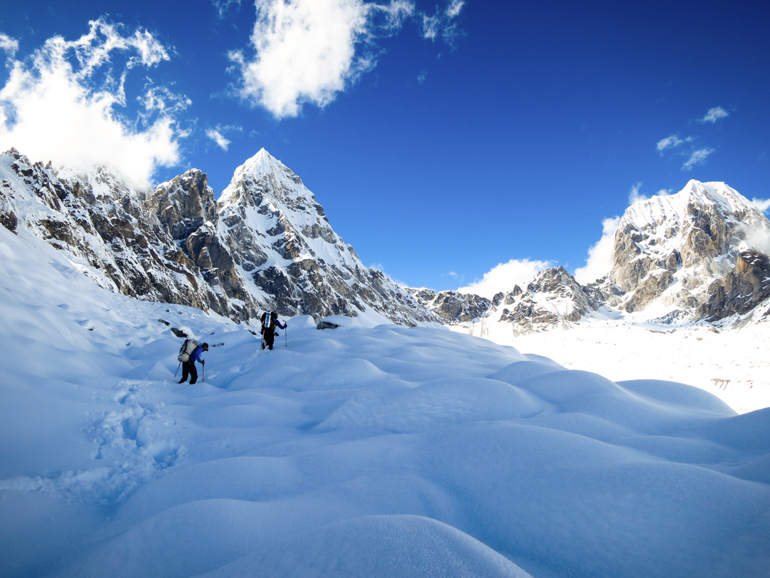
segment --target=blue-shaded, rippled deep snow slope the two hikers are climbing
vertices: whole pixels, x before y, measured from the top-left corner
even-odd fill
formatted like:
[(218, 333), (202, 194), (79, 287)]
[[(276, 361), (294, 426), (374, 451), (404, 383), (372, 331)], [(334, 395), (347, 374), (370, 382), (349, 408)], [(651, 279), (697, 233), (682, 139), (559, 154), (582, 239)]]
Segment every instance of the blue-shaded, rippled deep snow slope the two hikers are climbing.
[[(767, 576), (770, 409), (444, 329), (295, 318), (259, 351), (20, 235), (4, 576)], [(205, 383), (176, 385), (170, 327), (212, 346)]]

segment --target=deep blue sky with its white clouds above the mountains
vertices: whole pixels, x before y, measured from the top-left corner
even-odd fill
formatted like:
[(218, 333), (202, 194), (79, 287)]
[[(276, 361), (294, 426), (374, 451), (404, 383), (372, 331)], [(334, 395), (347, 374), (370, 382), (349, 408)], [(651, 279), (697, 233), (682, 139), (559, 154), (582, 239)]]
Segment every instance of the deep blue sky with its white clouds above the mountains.
[(0, 145), (217, 194), (264, 147), (364, 264), (436, 290), (574, 271), (631, 197), (690, 179), (770, 197), (761, 3), (176, 6), (4, 6)]

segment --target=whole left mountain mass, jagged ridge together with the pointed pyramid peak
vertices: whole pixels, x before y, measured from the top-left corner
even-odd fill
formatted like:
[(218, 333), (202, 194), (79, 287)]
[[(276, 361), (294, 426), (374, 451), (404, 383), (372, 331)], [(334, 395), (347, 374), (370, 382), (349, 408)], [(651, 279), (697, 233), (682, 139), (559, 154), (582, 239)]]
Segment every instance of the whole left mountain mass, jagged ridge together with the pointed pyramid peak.
[(189, 170), (152, 192), (106, 170), (79, 174), (0, 156), (0, 223), (66, 251), (113, 291), (213, 309), (235, 321), (367, 308), (392, 321), (437, 318), (337, 237), (313, 193), (265, 150), (217, 202)]

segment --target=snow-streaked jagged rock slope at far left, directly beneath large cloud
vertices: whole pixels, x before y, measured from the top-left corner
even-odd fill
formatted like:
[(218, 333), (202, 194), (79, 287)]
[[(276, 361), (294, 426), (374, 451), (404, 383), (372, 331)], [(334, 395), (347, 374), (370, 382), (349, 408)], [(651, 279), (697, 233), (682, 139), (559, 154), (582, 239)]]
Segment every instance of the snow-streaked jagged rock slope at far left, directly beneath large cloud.
[(129, 183), (104, 171), (60, 178), (15, 150), (0, 156), (0, 179), (0, 213), (16, 221), (8, 228), (66, 251), (102, 286), (151, 301), (220, 305), (186, 255), (144, 218), (142, 193)]

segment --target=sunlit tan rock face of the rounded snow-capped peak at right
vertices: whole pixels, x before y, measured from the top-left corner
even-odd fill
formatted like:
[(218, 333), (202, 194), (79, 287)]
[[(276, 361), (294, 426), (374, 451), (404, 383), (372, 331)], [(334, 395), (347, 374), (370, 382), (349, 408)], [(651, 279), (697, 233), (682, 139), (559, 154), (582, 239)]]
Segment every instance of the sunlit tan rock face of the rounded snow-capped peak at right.
[(605, 295), (629, 312), (661, 299), (694, 314), (711, 299), (708, 286), (748, 250), (750, 232), (770, 233), (770, 221), (725, 183), (691, 180), (675, 195), (634, 203), (615, 234), (608, 280), (624, 296), (613, 302)]

